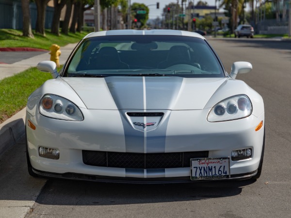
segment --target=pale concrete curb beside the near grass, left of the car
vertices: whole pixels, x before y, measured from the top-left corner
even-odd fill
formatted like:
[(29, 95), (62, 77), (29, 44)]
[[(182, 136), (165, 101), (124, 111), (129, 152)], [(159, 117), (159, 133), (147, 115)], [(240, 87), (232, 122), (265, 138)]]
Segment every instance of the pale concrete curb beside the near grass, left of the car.
[(25, 135), (26, 108), (0, 124), (0, 155)]

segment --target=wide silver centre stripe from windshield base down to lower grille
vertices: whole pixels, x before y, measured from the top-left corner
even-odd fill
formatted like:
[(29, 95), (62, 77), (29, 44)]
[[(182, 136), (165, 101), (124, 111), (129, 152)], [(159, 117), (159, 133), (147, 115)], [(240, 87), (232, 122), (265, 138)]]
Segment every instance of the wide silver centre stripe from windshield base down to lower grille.
[[(107, 86), (119, 109), (126, 143), (126, 152), (163, 153), (167, 125), (178, 93), (183, 83), (180, 77), (107, 77)], [(150, 123), (151, 117), (136, 117), (131, 120), (127, 112), (164, 112), (158, 128), (142, 131), (134, 128), (133, 122)]]

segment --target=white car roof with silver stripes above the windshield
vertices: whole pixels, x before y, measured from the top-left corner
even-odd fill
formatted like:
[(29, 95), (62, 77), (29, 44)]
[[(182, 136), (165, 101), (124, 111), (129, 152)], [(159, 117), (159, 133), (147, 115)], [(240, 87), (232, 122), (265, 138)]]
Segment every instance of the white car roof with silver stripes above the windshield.
[(196, 38), (205, 39), (202, 35), (196, 32), (189, 31), (178, 31), (178, 30), (111, 30), (111, 31), (99, 31), (91, 32), (84, 37), (97, 37), (97, 36), (108, 36), (108, 35), (180, 35), (180, 36), (191, 36)]

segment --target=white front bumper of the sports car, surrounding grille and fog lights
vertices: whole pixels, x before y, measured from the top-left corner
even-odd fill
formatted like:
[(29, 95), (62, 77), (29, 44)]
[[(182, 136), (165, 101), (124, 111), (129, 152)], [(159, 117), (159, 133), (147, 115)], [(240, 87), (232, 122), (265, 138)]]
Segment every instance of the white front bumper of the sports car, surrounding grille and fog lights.
[[(42, 176), (78, 180), (126, 183), (190, 182), (189, 167), (152, 170), (89, 166), (83, 162), (82, 151), (208, 151), (208, 157), (227, 157), (231, 156), (233, 150), (251, 148), (251, 158), (230, 160), (230, 179), (250, 178), (257, 173), (264, 133), (263, 127), (257, 132), (255, 128), (264, 121), (264, 114), (235, 121), (209, 123), (206, 120), (208, 111), (205, 110), (163, 112), (166, 122), (159, 123), (155, 130), (144, 132), (133, 128), (126, 130), (131, 124), (125, 126), (120, 111), (116, 110), (82, 109), (84, 117), (87, 118), (82, 122), (55, 120), (40, 114), (32, 116), (27, 113), (27, 120), (36, 126), (35, 130), (27, 127), (28, 151), (33, 171)], [(136, 146), (132, 145), (132, 141), (136, 142)], [(40, 146), (57, 148), (60, 158), (53, 160), (40, 157)]]

